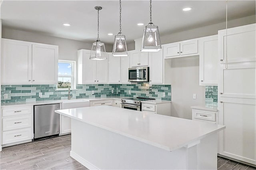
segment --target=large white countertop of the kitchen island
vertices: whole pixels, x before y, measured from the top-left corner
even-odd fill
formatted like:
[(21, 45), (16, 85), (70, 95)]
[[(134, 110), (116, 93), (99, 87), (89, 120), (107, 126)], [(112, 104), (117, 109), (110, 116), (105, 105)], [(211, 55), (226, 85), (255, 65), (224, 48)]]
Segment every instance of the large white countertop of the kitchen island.
[(168, 151), (196, 142), (225, 128), (176, 117), (110, 106), (57, 110), (56, 113)]

